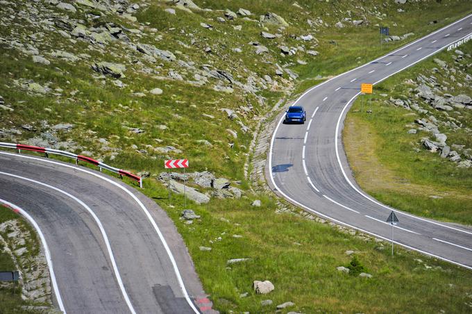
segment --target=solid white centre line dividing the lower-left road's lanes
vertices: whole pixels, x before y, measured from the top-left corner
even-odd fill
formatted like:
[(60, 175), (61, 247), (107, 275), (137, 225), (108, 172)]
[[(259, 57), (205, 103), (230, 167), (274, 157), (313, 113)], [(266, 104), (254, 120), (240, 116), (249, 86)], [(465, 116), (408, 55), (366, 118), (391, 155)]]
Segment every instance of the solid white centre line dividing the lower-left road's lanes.
[(112, 248), (111, 248), (111, 245), (110, 245), (110, 241), (108, 240), (108, 236), (105, 232), (105, 229), (103, 228), (103, 224), (101, 224), (101, 222), (99, 220), (99, 217), (97, 217), (95, 215), (94, 211), (89, 206), (87, 206), (87, 204), (85, 204), (81, 199), (78, 199), (74, 195), (71, 195), (70, 193), (68, 193), (64, 190), (61, 190), (60, 188), (56, 188), (53, 185), (49, 185), (47, 183), (42, 183), (40, 181), (25, 178), (24, 176), (17, 176), (16, 174), (9, 174), (8, 172), (0, 172), (0, 174), (6, 175), (6, 176), (12, 176), (12, 177), (17, 178), (17, 179), (22, 179), (22, 180), (29, 181), (29, 182), (32, 182), (32, 183), (36, 183), (36, 184), (42, 185), (46, 188), (50, 188), (51, 190), (55, 190), (57, 192), (60, 192), (61, 194), (66, 195), (67, 197), (70, 197), (71, 199), (74, 199), (74, 201), (76, 201), (78, 204), (80, 204), (83, 208), (85, 208), (85, 210), (87, 210), (87, 212), (90, 213), (90, 215), (92, 215), (93, 219), (95, 220), (96, 224), (99, 226), (99, 229), (101, 231), (101, 236), (103, 237), (103, 240), (104, 240), (105, 245), (106, 245), (106, 249), (108, 251), (108, 255), (110, 256), (110, 261), (112, 262), (113, 272), (115, 273), (115, 278), (117, 279), (119, 289), (121, 290), (121, 294), (123, 295), (124, 300), (125, 300), (126, 304), (128, 305), (128, 308), (129, 308), (130, 312), (135, 314), (136, 311), (133, 308), (133, 304), (131, 304), (131, 300), (128, 297), (128, 292), (126, 292), (126, 289), (124, 288), (123, 281), (121, 280), (121, 275), (119, 274), (119, 271), (118, 271), (118, 266), (117, 266), (117, 263), (115, 261), (115, 256), (113, 255), (113, 251), (112, 251)]

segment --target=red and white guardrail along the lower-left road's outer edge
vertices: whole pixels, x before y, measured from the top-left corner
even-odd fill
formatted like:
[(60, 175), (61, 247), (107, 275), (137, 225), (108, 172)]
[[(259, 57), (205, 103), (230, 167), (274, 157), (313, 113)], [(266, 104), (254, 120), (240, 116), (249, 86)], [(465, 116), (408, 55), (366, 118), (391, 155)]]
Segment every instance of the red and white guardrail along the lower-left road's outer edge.
[(69, 153), (69, 151), (60, 151), (58, 149), (37, 147), (37, 146), (31, 146), (31, 145), (25, 145), (25, 144), (13, 144), (13, 143), (0, 142), (0, 147), (7, 147), (7, 148), (12, 148), (12, 149), (17, 149), (18, 153), (20, 153), (23, 150), (23, 151), (37, 151), (38, 153), (46, 154), (46, 156), (48, 156), (48, 154), (66, 156), (66, 157), (69, 157), (69, 158), (74, 158), (76, 160), (76, 164), (78, 164), (79, 161), (85, 161), (85, 163), (91, 163), (92, 165), (98, 166), (100, 171), (103, 168), (103, 169), (109, 170), (111, 172), (115, 172), (115, 173), (119, 174), (120, 176), (127, 176), (128, 178), (139, 182), (140, 183), (140, 188), (142, 188), (142, 177), (137, 176), (136, 174), (132, 174), (131, 172), (128, 172), (126, 170), (121, 170), (121, 169), (118, 169), (118, 168), (115, 168), (115, 167), (111, 167), (109, 165), (106, 165), (105, 163), (101, 163), (99, 160), (95, 160), (95, 159), (87, 157), (87, 156), (76, 155), (76, 154), (73, 154), (73, 153)]

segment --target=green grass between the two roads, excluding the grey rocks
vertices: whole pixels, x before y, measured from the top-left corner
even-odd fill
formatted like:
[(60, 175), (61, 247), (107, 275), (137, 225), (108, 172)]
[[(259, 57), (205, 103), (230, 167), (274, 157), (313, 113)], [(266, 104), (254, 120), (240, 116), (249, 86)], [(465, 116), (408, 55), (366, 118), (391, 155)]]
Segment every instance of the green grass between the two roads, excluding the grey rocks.
[[(247, 67), (258, 75), (272, 75), (273, 67), (264, 61), (280, 65), (285, 63), (296, 65), (296, 59), (301, 58), (308, 62), (303, 67), (294, 66), (300, 72), (301, 78), (305, 80), (297, 85), (296, 91), (301, 92), (316, 81), (312, 79), (314, 76), (337, 74), (378, 56), (382, 51), (389, 51), (402, 44), (398, 42), (384, 45), (383, 50), (380, 51), (376, 44), (378, 39), (376, 19), (372, 17), (369, 17), (371, 21), (369, 26), (343, 28), (342, 32), (346, 35), (340, 34), (335, 28), (320, 27), (317, 32), (315, 28), (318, 27), (311, 28), (307, 25), (306, 19), (315, 18), (312, 12), (331, 25), (339, 21), (340, 17), (345, 17), (346, 10), (353, 12), (353, 19), (360, 19), (363, 9), (356, 8), (352, 4), (348, 5), (347, 1), (335, 3), (337, 10), (343, 10), (342, 13), (337, 13), (337, 17), (334, 17), (332, 13), (332, 1), (330, 3), (298, 1), (305, 8), (303, 10), (292, 6), (292, 1), (260, 1), (258, 3), (231, 1), (224, 4), (221, 1), (195, 2), (205, 8), (230, 8), (232, 10), (237, 10), (239, 7), (247, 8), (257, 16), (272, 11), (291, 23), (291, 26), (283, 33), (285, 36), (283, 40), (271, 42), (261, 38), (259, 35), (261, 28), (251, 22), (237, 19), (219, 24), (215, 19), (222, 13), (201, 12), (189, 15), (177, 10), (178, 14), (174, 17), (163, 12), (166, 8), (165, 4), (156, 2), (148, 10), (137, 15), (140, 22), (149, 22), (150, 27), (164, 30), (161, 34), (162, 40), (153, 42), (151, 38), (144, 37), (140, 40), (141, 42), (152, 42), (161, 49), (183, 51), (191, 60), (199, 60), (199, 64), (212, 62), (217, 68), (238, 69), (237, 73), (242, 76), (242, 81), (248, 76), (244, 71), (240, 71), (242, 68)], [(432, 28), (437, 28), (439, 24), (446, 24), (448, 20), (441, 18), (446, 14), (450, 16), (450, 19), (464, 15), (463, 8), (466, 1), (443, 2), (445, 3), (441, 6), (435, 2), (428, 2), (428, 6), (412, 3), (405, 6), (405, 13), (397, 13), (398, 6), (391, 3), (384, 8), (380, 7), (382, 4), (378, 1), (363, 1), (362, 6), (373, 8), (374, 5), (378, 5), (382, 8), (382, 13), (387, 13), (389, 22), (383, 23), (380, 20), (378, 22), (391, 26), (392, 34), (403, 35), (414, 29), (416, 35), (421, 35), (431, 31)], [(437, 10), (437, 8), (442, 10)], [(420, 11), (421, 17), (412, 18), (416, 17)], [(210, 23), (210, 19), (214, 20)], [(428, 25), (432, 19), (439, 20), (439, 24)], [(395, 21), (398, 26), (394, 26)], [(215, 29), (205, 30), (199, 26), (200, 22), (213, 24)], [(406, 25), (402, 26), (400, 22)], [(126, 21), (119, 21), (119, 23), (128, 26)], [(244, 31), (233, 29), (233, 25), (239, 24), (243, 26)], [(131, 24), (128, 27), (136, 26)], [(170, 31), (169, 27), (176, 29)], [(28, 26), (25, 29), (35, 31), (29, 29)], [(194, 33), (196, 44), (192, 49), (187, 49), (176, 42), (176, 40), (182, 40), (185, 44), (190, 44), (189, 38), (180, 35), (180, 29), (184, 29), (186, 33), (189, 31)], [(267, 31), (276, 33), (277, 27), (268, 26)], [(3, 32), (8, 33), (6, 29), (3, 29)], [(314, 33), (320, 45), (313, 49), (319, 51), (320, 55), (315, 58), (303, 53), (291, 57), (280, 56), (276, 48), (280, 42), (285, 42), (289, 46), (303, 44), (290, 38), (291, 33), (296, 35)], [(332, 39), (336, 40), (337, 44), (329, 44)], [(60, 49), (69, 49), (68, 42), (60, 37), (56, 40)], [(252, 52), (253, 47), (247, 44), (254, 40), (267, 45), (273, 52), (267, 56), (255, 56)], [(207, 56), (201, 52), (208, 42), (212, 43), (212, 51), (216, 57)], [(221, 45), (216, 43), (221, 43)], [(364, 49), (366, 44), (369, 44), (371, 49)], [(226, 45), (226, 48), (223, 45)], [(305, 44), (305, 49), (310, 49), (310, 45), (314, 46), (312, 43)], [(79, 41), (75, 49), (79, 51), (86, 47), (87, 44)], [(233, 53), (230, 49), (234, 47), (241, 47), (244, 53)], [(44, 47), (44, 49), (49, 48)], [(110, 47), (107, 50), (106, 59), (125, 62), (117, 57), (120, 49), (123, 48)], [(356, 59), (360, 49), (364, 51), (364, 54), (360, 59)], [(233, 139), (221, 130), (234, 128), (234, 124), (226, 119), (224, 113), (219, 112), (218, 108), (235, 109), (241, 104), (253, 104), (255, 113), (244, 118), (244, 122), (251, 126), (253, 115), (265, 113), (277, 99), (283, 97), (286, 88), (285, 83), (279, 80), (280, 90), (264, 90), (262, 94), (268, 98), (269, 105), (260, 106), (251, 95), (240, 92), (221, 94), (214, 92), (211, 86), (195, 88), (178, 81), (156, 81), (137, 72), (139, 67), (126, 63), (127, 78), (123, 81), (128, 84), (128, 87), (119, 89), (115, 88), (109, 80), (106, 80), (105, 84), (93, 80), (87, 63), (70, 65), (51, 59), (51, 66), (44, 67), (32, 63), (31, 58), (25, 58), (15, 51), (1, 49), (1, 53), (1, 71), (4, 75), (0, 76), (0, 94), (15, 108), (14, 113), (8, 114), (12, 124), (2, 122), (4, 123), (2, 127), (19, 126), (24, 123), (37, 126), (37, 121), (40, 119), (47, 119), (50, 124), (74, 122), (76, 127), (73, 131), (61, 135), (64, 139), (72, 138), (85, 149), (103, 156), (104, 160), (110, 164), (135, 171), (160, 172), (162, 171), (160, 165), (165, 156), (153, 153), (137, 154), (130, 149), (131, 144), (137, 144), (140, 149), (145, 144), (154, 146), (173, 144), (183, 149), (185, 156), (190, 158), (192, 170), (208, 168), (219, 176), (244, 181), (242, 166), (245, 160), (244, 154), (248, 152), (247, 147), (251, 135), (244, 135), (238, 130), (239, 137), (235, 141), (235, 149), (228, 149), (227, 144)], [(92, 56), (90, 60), (96, 58), (101, 60), (99, 52), (87, 51), (87, 53)], [(140, 58), (139, 53), (135, 53), (134, 57)], [(21, 66), (19, 66), (20, 62)], [(165, 63), (163, 69), (159, 70), (160, 75), (165, 76), (168, 67), (171, 66), (174, 65)], [(55, 67), (58, 67), (60, 71)], [(37, 97), (25, 94), (18, 89), (5, 87), (11, 85), (12, 79), (21, 77), (34, 77), (40, 83), (51, 81), (53, 83), (51, 87), (60, 87), (64, 92), (60, 97)], [(155, 87), (162, 88), (164, 93), (158, 97), (148, 94), (142, 98), (131, 95), (132, 92), (150, 90)], [(76, 89), (78, 93), (72, 95), (71, 92)], [(201, 94), (205, 96), (202, 97)], [(19, 101), (26, 101), (26, 103)], [(119, 104), (129, 108), (124, 109)], [(196, 108), (190, 106), (191, 104), (195, 104)], [(44, 107), (51, 108), (52, 112), (44, 111)], [(182, 118), (174, 117), (174, 113)], [(201, 118), (201, 113), (214, 115), (216, 119)], [(146, 133), (131, 135), (121, 124), (140, 127), (145, 129)], [(162, 131), (157, 127), (159, 124), (166, 124), (169, 129)], [(205, 127), (202, 128), (202, 125)], [(89, 129), (96, 134), (92, 136), (87, 133)], [(25, 132), (19, 140), (26, 140), (31, 136)], [(110, 146), (127, 152), (120, 152), (115, 160), (110, 160), (110, 156), (105, 151), (101, 151), (100, 144), (97, 142), (98, 138), (107, 138)], [(154, 138), (162, 139), (164, 142), (155, 145)], [(201, 145), (196, 145), (194, 141), (201, 139), (210, 140), (214, 147), (205, 149)], [(247, 183), (243, 185), (245, 184)], [(469, 302), (466, 294), (472, 293), (471, 274), (452, 265), (404, 250), (399, 250), (400, 254), (391, 258), (388, 249), (380, 249), (381, 246), (373, 240), (366, 242), (356, 236), (337, 231), (328, 224), (319, 224), (297, 215), (276, 214), (274, 208), (277, 205), (274, 199), (267, 195), (253, 195), (251, 192), (246, 192), (246, 197), (240, 200), (215, 199), (206, 206), (192, 205), (196, 213), (202, 215), (202, 220), (192, 225), (183, 224), (179, 220), (180, 210), (183, 209), (182, 197), (174, 196), (172, 204), (175, 208), (172, 208), (166, 201), (167, 191), (160, 183), (146, 180), (144, 187), (143, 191), (146, 195), (158, 199), (158, 202), (176, 222), (178, 230), (183, 234), (189, 247), (205, 290), (210, 293), (215, 307), (224, 313), (230, 310), (253, 313), (273, 312), (275, 305), (284, 301), (294, 301), (296, 306), (290, 310), (304, 313), (317, 310), (322, 312), (382, 312), (385, 311), (385, 304), (392, 306), (391, 311), (431, 312), (437, 311), (438, 308), (456, 312), (469, 310), (469, 305), (466, 305), (466, 302)], [(262, 208), (252, 208), (250, 206), (252, 199), (262, 199)], [(220, 220), (221, 217), (230, 220), (230, 223)], [(243, 238), (233, 238), (234, 234), (242, 235)], [(217, 240), (219, 237), (221, 240)], [(200, 251), (201, 245), (212, 247), (212, 251)], [(351, 260), (344, 254), (344, 251), (348, 249), (358, 252), (357, 255), (368, 272), (373, 274), (372, 279), (349, 276), (335, 269), (339, 265), (347, 265)], [(253, 258), (253, 261), (233, 265), (231, 269), (227, 269), (228, 259), (242, 257)], [(425, 263), (414, 261), (414, 258), (421, 258)], [(426, 267), (425, 264), (432, 268)], [(251, 292), (252, 281), (266, 279), (275, 284), (276, 290), (267, 296), (254, 295)], [(453, 286), (449, 286), (449, 283)], [(243, 292), (250, 293), (246, 298), (239, 298), (239, 294)], [(259, 303), (262, 299), (273, 299), (274, 305), (262, 308)]]

